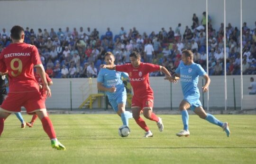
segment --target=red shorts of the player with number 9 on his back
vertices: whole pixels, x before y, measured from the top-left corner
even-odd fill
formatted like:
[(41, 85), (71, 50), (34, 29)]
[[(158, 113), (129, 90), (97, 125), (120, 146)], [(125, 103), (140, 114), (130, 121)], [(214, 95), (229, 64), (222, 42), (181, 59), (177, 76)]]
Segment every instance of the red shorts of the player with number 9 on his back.
[(46, 110), (45, 98), (38, 91), (8, 93), (1, 108), (6, 112), (20, 112), (25, 107), (27, 113)]

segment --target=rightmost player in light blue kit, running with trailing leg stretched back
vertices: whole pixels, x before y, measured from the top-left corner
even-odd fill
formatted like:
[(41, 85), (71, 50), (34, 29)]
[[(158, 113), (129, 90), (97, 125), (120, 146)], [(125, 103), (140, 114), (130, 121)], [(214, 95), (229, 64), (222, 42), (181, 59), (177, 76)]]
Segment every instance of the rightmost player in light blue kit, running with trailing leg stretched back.
[(197, 87), (198, 77), (203, 76), (205, 79), (205, 85), (202, 87), (203, 92), (208, 91), (210, 85), (210, 78), (204, 69), (199, 65), (193, 62), (193, 53), (191, 50), (182, 51), (182, 61), (180, 62), (178, 68), (175, 70), (173, 76), (166, 76), (165, 79), (170, 82), (176, 82), (175, 77), (180, 77), (181, 86), (183, 91), (183, 100), (180, 103), (179, 109), (182, 114), (183, 121), (183, 130), (179, 133), (176, 133), (177, 136), (186, 136), (190, 135), (188, 120), (189, 115), (187, 110), (190, 108), (195, 114), (199, 115), (200, 118), (209, 121), (215, 125), (220, 126), (223, 131), (227, 133), (229, 137), (229, 123), (223, 123), (215, 118), (213, 115), (210, 115), (204, 111), (202, 108), (200, 98), (200, 92)]

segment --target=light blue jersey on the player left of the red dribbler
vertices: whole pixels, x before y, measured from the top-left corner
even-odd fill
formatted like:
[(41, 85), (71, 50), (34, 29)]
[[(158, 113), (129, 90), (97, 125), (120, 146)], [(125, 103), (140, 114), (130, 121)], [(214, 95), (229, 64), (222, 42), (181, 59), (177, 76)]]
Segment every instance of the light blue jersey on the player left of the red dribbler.
[(127, 73), (109, 70), (107, 68), (101, 68), (97, 78), (97, 82), (101, 82), (106, 88), (117, 88), (116, 92), (113, 93), (106, 91), (109, 99), (117, 98), (117, 96), (122, 94), (122, 92), (126, 93), (126, 89), (122, 81), (122, 76), (124, 78), (128, 78)]

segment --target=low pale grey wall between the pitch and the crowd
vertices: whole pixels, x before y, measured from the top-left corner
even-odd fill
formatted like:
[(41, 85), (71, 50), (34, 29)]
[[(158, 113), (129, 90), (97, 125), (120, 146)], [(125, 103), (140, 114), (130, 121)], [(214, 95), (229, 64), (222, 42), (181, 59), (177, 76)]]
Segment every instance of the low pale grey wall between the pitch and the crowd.
[[(256, 99), (251, 98), (248, 95), (249, 90), (247, 89), (250, 83), (250, 75), (243, 76), (243, 93), (244, 98), (249, 101), (248, 108), (256, 108)], [(164, 77), (150, 77), (150, 84), (154, 90), (154, 106), (155, 107), (171, 107), (171, 84), (163, 79)], [(225, 92), (224, 92), (224, 76), (211, 76), (210, 92), (209, 92), (209, 107), (225, 107)], [(236, 106), (241, 106), (241, 83), (240, 76), (227, 76), (227, 106), (228, 108), (234, 107), (234, 87), (233, 78), (235, 79), (235, 98)], [(254, 75), (256, 79), (256, 76)], [(95, 78), (91, 80), (89, 78), (80, 79), (53, 79), (54, 85), (51, 86), (52, 98), (46, 100), (46, 106), (48, 108), (70, 108), (71, 107), (71, 94), (70, 94), (70, 84), (72, 88), (72, 107), (78, 108), (82, 102), (91, 94), (98, 93), (97, 81)], [(90, 87), (91, 86), (91, 87)], [(201, 90), (202, 78), (200, 78), (198, 86)], [(201, 102), (207, 107), (207, 94), (202, 96)], [(182, 90), (180, 83), (172, 84), (172, 106), (179, 107), (181, 100), (183, 99)], [(253, 100), (254, 99), (254, 100)], [(244, 99), (244, 102), (248, 101)], [(94, 107), (98, 107), (98, 103), (95, 102)]]

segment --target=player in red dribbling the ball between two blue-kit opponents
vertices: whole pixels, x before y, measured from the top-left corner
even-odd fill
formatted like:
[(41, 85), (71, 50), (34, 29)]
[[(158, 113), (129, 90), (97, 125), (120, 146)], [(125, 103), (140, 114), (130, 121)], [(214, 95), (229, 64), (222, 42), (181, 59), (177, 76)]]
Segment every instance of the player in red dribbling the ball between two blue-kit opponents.
[(129, 74), (129, 80), (134, 92), (131, 105), (133, 118), (136, 123), (146, 131), (144, 137), (153, 137), (153, 133), (149, 130), (143, 118), (140, 117), (140, 113), (143, 111), (143, 115), (147, 119), (157, 123), (159, 131), (164, 130), (162, 119), (153, 113), (154, 94), (149, 85), (149, 73), (162, 71), (167, 76), (169, 76), (170, 73), (164, 66), (141, 62), (141, 57), (138, 52), (132, 52), (129, 57), (131, 64), (119, 66), (101, 65), (101, 68), (115, 69), (116, 71)]

